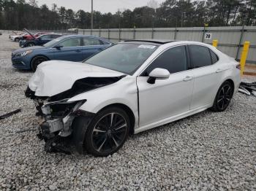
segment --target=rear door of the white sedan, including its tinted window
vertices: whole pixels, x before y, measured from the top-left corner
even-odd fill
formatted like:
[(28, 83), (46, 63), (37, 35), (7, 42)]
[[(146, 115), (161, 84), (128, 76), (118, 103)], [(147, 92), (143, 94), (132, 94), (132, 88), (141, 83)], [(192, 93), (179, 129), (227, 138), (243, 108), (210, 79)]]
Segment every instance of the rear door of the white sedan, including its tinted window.
[(194, 73), (194, 90), (191, 109), (211, 106), (222, 79), (217, 66), (218, 57), (208, 47), (189, 45), (190, 58)]

